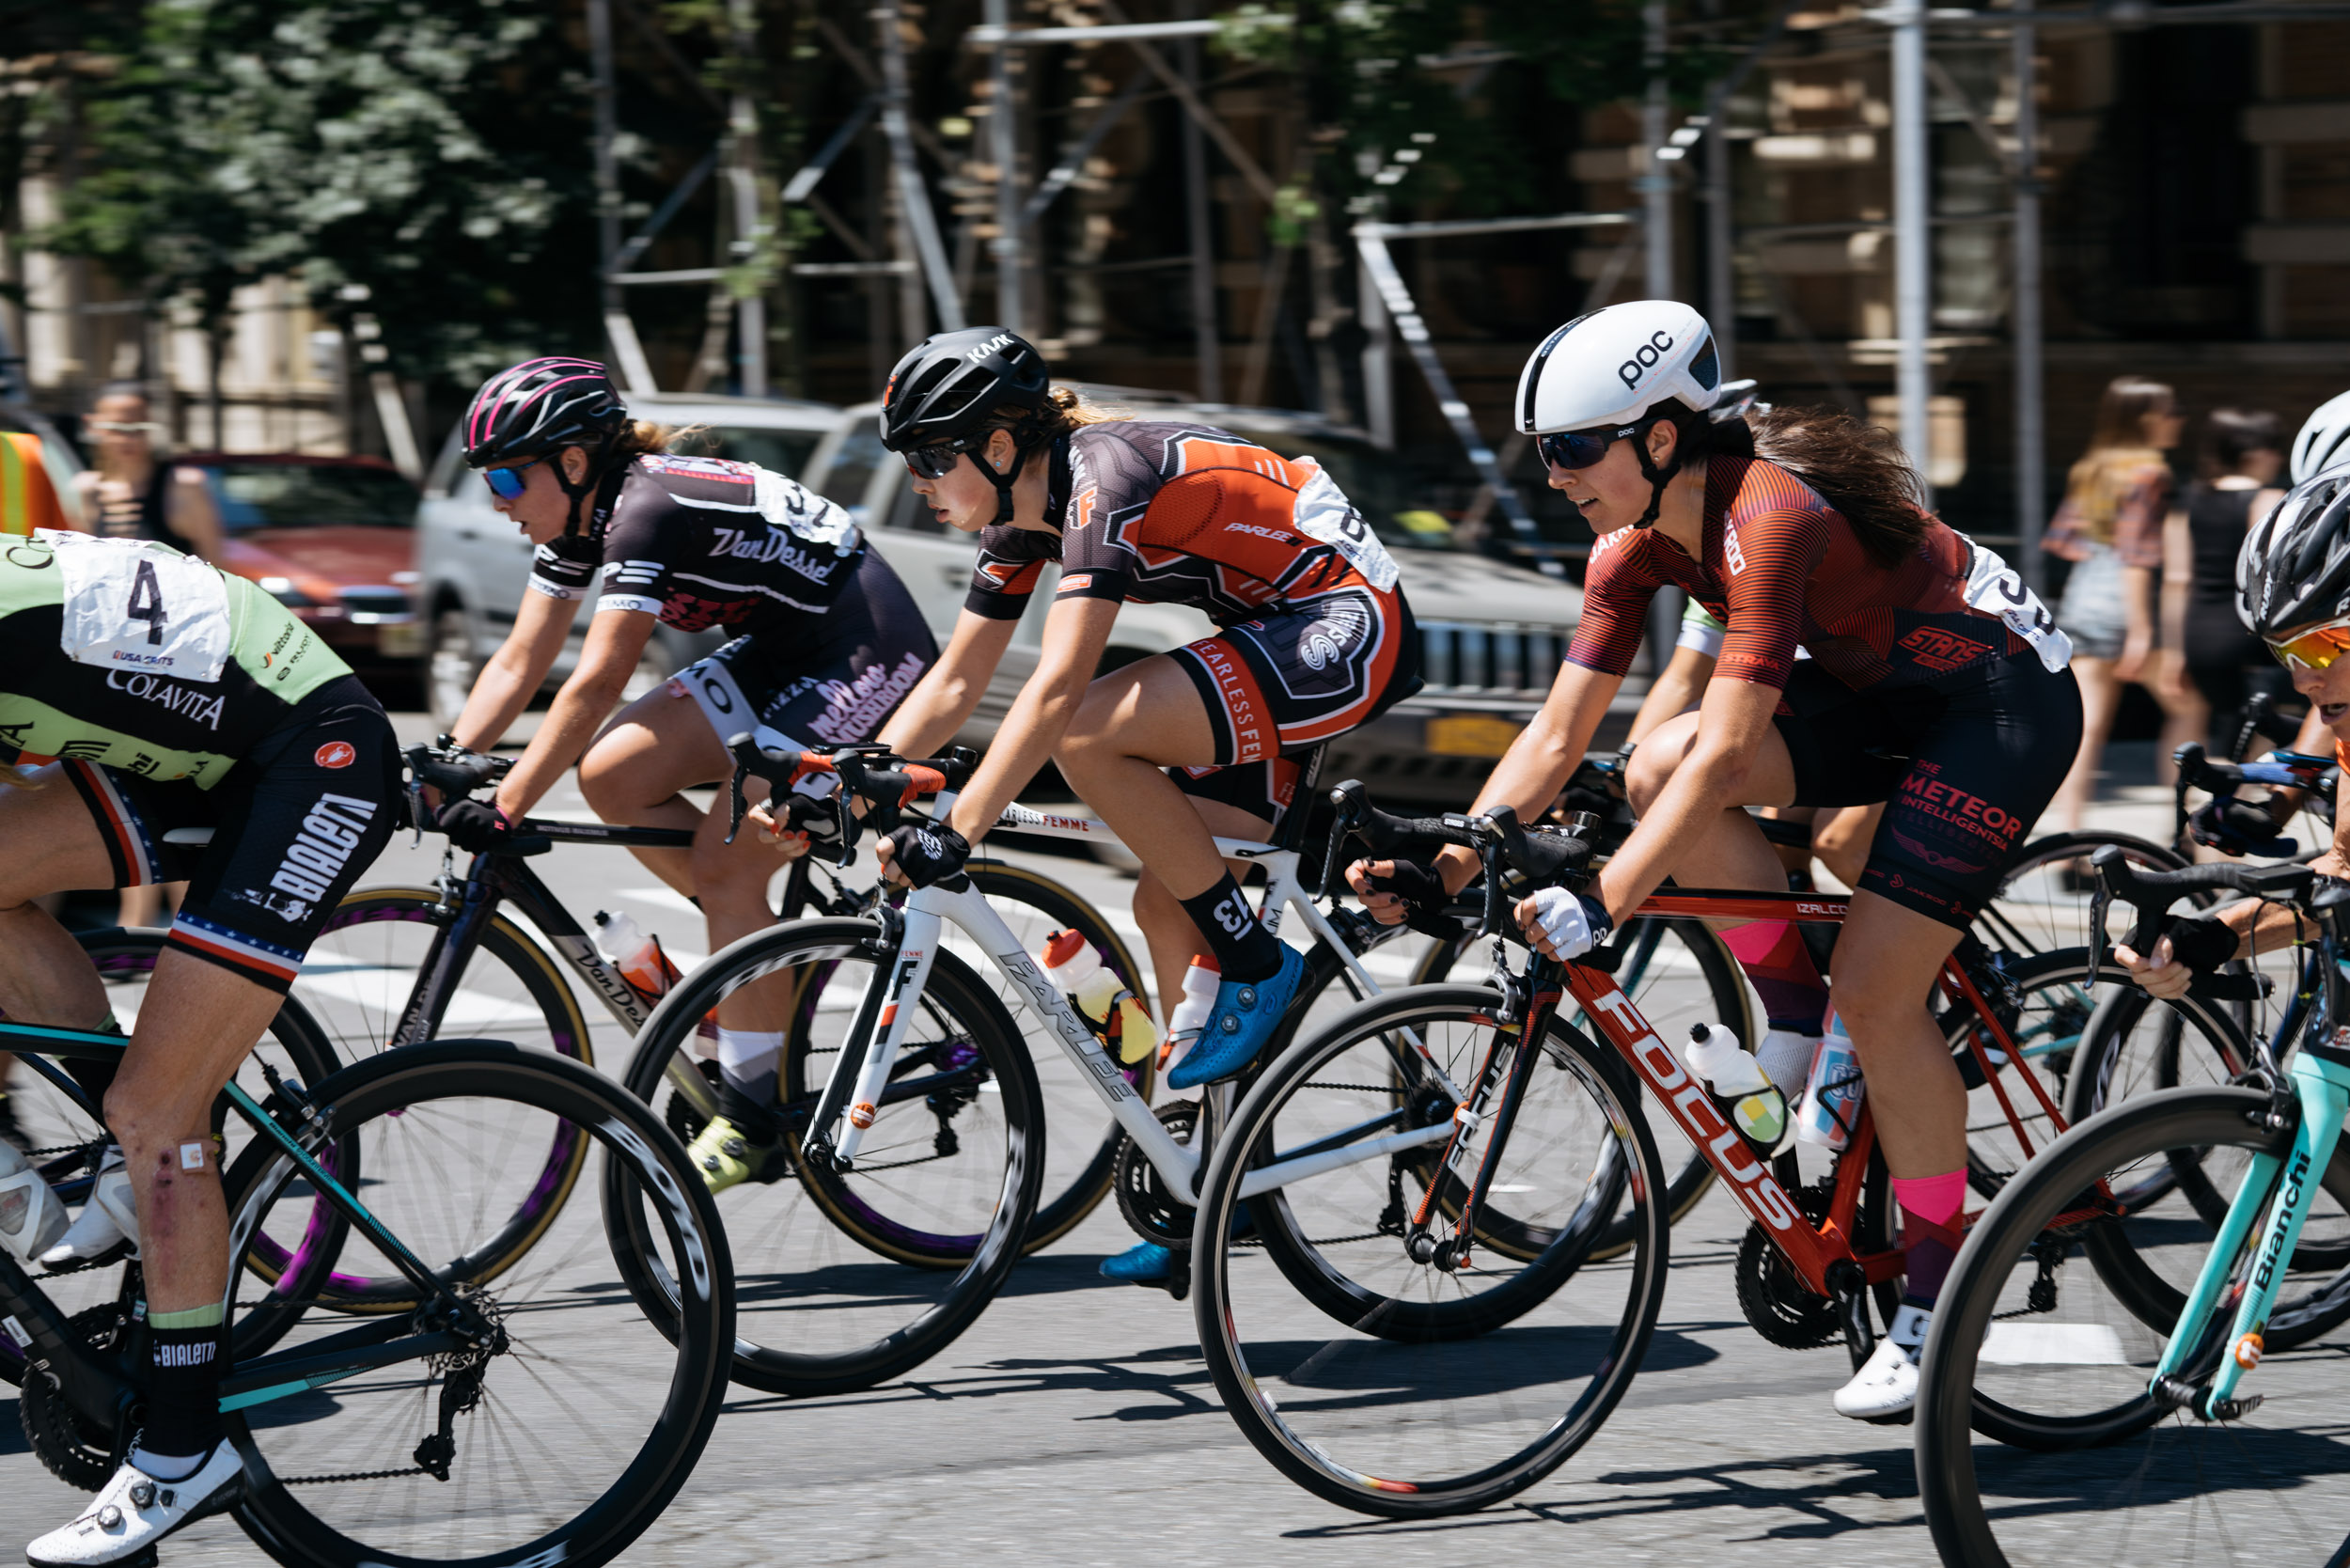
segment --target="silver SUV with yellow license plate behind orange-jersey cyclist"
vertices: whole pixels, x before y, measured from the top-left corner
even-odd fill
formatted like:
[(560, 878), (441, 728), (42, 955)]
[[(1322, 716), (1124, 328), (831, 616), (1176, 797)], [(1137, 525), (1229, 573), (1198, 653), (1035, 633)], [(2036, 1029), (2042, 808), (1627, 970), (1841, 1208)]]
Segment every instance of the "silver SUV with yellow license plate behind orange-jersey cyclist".
[[(1332, 741), (1323, 780), (1361, 778), (1382, 799), (1466, 804), (1492, 759), (1542, 708), (1582, 616), (1582, 590), (1455, 548), (1445, 517), (1417, 503), (1408, 468), (1358, 430), (1330, 425), (1314, 414), (1177, 402), (1166, 393), (1130, 388), (1088, 388), (1088, 395), (1130, 407), (1140, 418), (1208, 423), (1281, 456), (1311, 454), (1321, 461), (1403, 567), (1403, 592), (1419, 623), (1426, 679), (1419, 696)], [(801, 480), (865, 524), (945, 646), (971, 588), (975, 543), (968, 534), (945, 529), (919, 503), (905, 463), (881, 447), (879, 416), (877, 402), (848, 409), (815, 449)], [(964, 733), (966, 743), (985, 745), (1036, 668), (1043, 637), (1039, 607), (1050, 597), (1046, 588), (1032, 599)], [(1215, 628), (1196, 609), (1126, 604), (1112, 630), (1104, 668), (1166, 654), (1210, 630)]]

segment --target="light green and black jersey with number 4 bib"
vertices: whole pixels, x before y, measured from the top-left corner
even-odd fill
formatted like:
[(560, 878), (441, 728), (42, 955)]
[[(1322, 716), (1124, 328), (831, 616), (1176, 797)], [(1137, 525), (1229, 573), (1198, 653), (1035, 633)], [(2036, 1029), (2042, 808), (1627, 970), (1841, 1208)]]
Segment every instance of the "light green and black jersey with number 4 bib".
[(167, 545), (0, 545), (0, 762), (78, 757), (209, 790), (343, 675), (284, 604)]

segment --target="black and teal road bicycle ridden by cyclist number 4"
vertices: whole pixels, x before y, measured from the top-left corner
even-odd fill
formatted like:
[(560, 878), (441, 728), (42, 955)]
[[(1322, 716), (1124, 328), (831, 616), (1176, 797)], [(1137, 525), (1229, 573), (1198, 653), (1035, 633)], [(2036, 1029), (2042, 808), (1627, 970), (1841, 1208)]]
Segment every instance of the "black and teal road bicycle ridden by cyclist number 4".
[[(0, 1048), (103, 1138), (52, 1058), (103, 1065), (120, 1037), (0, 1025)], [(244, 1462), (223, 1505), (237, 1526), (280, 1563), (320, 1568), (618, 1556), (684, 1486), (726, 1389), (733, 1272), (684, 1145), (588, 1067), (503, 1041), (418, 1044), (313, 1084), (270, 1056), (256, 1065), (261, 1093), (223, 1091), (242, 1128), (223, 1175), (221, 1418)], [(667, 1262), (677, 1291), (658, 1328), (611, 1286), (609, 1227), (580, 1211), (496, 1281), (428, 1262), (461, 1258), (468, 1211), (505, 1211), (540, 1180), (533, 1150), (555, 1126), (602, 1152), (637, 1255)], [(251, 1258), (263, 1234), (296, 1241), (266, 1281)], [(320, 1312), (320, 1286), (350, 1267), (397, 1274), (414, 1305)], [(0, 1255), (26, 1439), (96, 1490), (143, 1420), (143, 1286), (134, 1265), (80, 1309), (52, 1286)]]

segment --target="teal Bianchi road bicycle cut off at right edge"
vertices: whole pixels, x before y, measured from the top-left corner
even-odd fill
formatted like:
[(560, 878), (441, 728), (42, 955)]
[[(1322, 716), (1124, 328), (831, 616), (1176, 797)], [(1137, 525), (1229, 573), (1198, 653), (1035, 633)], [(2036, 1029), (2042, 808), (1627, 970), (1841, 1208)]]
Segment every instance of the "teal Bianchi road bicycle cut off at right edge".
[[(2294, 905), (2317, 936), (2235, 1084), (2106, 1110), (1976, 1222), (1920, 1382), (1934, 1542), (1946, 1563), (1983, 1568), (2341, 1563), (2350, 1361), (2319, 1340), (2350, 1316), (2350, 884), (2308, 865), (2103, 872), (2138, 912), (2141, 952), (2181, 893), (2209, 889)], [(2207, 1006), (2204, 985), (2157, 1006)], [(2077, 1450), (2052, 1462), (1972, 1443), (1969, 1410), (1986, 1406)]]

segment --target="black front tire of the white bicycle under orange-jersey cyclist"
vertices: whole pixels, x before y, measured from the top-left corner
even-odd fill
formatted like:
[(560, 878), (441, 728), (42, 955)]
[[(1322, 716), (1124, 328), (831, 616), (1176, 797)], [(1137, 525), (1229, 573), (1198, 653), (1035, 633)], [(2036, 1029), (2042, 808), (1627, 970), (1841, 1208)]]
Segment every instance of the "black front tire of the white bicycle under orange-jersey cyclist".
[[(830, 978), (832, 969), (844, 959), (853, 961), (858, 954), (865, 954), (870, 961), (877, 952), (877, 933), (879, 926), (870, 919), (804, 919), (754, 931), (724, 947), (679, 980), (660, 999), (660, 1006), (653, 1009), (644, 1032), (637, 1037), (637, 1051), (623, 1084), (637, 1098), (658, 1105), (663, 1084), (674, 1081), (672, 1063), (691, 1060), (689, 1041), (703, 1013), (717, 1006), (736, 985), (773, 973), (794, 973), (794, 985), (799, 985), (785, 1044), (790, 1053), (790, 1037), (808, 1034), (815, 1027), (820, 1001), (818, 971)], [(1001, 1105), (1003, 1173), (1001, 1178), (980, 1178), (989, 1201), (985, 1225), (971, 1237), (942, 1237), (921, 1232), (912, 1222), (879, 1215), (858, 1197), (851, 1180), (841, 1180), (832, 1171), (815, 1171), (799, 1150), (797, 1128), (787, 1128), (783, 1145), (792, 1159), (792, 1180), (778, 1180), (768, 1187), (745, 1182), (733, 1192), (801, 1190), (820, 1211), (822, 1225), (832, 1234), (853, 1241), (860, 1255), (877, 1255), (891, 1265), (909, 1265), (926, 1274), (947, 1276), (947, 1284), (933, 1291), (935, 1300), (921, 1305), (921, 1288), (893, 1274), (888, 1286), (893, 1295), (916, 1295), (919, 1312), (909, 1321), (891, 1324), (884, 1333), (874, 1333), (844, 1349), (780, 1349), (759, 1342), (757, 1321), (738, 1324), (733, 1371), (738, 1382), (771, 1394), (841, 1394), (895, 1378), (921, 1366), (961, 1335), (987, 1309), (996, 1291), (1003, 1288), (1003, 1279), (1020, 1258), (1020, 1241), (1036, 1211), (1036, 1190), (1043, 1182), (1043, 1168), (1036, 1159), (1043, 1143), (1043, 1103), (1036, 1091), (1027, 1044), (994, 999), (994, 992), (947, 952), (933, 957), (924, 999), (905, 1006), (928, 1009), (926, 1018), (916, 1023), (938, 1020), (938, 1027), (952, 1025), (964, 1030), (971, 1058), (959, 1072), (966, 1072), (971, 1079), (968, 1086), (980, 1093), (978, 1098), (961, 1100), (961, 1107), (975, 1107), (980, 1098)], [(931, 1103), (924, 1100), (924, 1107), (931, 1107)], [(797, 1114), (804, 1117), (806, 1110), (801, 1105)], [(886, 1103), (884, 1112), (888, 1110), (891, 1105)], [(877, 1126), (886, 1124), (888, 1117), (877, 1121)], [(877, 1133), (872, 1147), (886, 1147), (886, 1135)], [(860, 1154), (860, 1159), (872, 1157)], [(787, 1241), (783, 1237), (785, 1227), (766, 1227), (759, 1239), (747, 1239), (745, 1232), (750, 1225), (745, 1225), (740, 1204), (731, 1204), (731, 1208), (736, 1208), (733, 1234), (738, 1260), (752, 1260), (752, 1265), (766, 1262), (761, 1248), (768, 1241), (778, 1246)], [(634, 1239), (639, 1229), (627, 1227), (627, 1237)], [(848, 1293), (870, 1279), (844, 1262), (832, 1262), (827, 1269), (839, 1272), (848, 1281)], [(660, 1302), (674, 1293), (674, 1286), (660, 1279), (660, 1272), (649, 1267), (634, 1246), (620, 1246), (620, 1272), (630, 1293), (658, 1321)], [(806, 1269), (801, 1267), (799, 1272)], [(773, 1288), (780, 1291), (785, 1286), (778, 1284)], [(881, 1291), (879, 1279), (872, 1279), (872, 1291)], [(808, 1314), (801, 1316), (808, 1319)], [(799, 1321), (794, 1331), (808, 1335), (813, 1333), (811, 1324), (813, 1319)], [(862, 1328), (853, 1326), (851, 1333), (862, 1333)], [(804, 1345), (806, 1338), (794, 1342)]]

